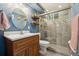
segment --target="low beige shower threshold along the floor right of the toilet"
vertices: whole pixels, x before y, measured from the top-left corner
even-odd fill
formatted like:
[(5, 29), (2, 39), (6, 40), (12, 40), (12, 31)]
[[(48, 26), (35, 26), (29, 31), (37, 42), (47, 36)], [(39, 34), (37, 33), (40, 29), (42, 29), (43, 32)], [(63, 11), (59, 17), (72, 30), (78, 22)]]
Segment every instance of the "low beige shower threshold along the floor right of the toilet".
[(63, 56), (69, 56), (70, 55), (70, 49), (68, 47), (63, 47), (56, 44), (50, 44), (48, 47), (49, 51), (57, 52)]

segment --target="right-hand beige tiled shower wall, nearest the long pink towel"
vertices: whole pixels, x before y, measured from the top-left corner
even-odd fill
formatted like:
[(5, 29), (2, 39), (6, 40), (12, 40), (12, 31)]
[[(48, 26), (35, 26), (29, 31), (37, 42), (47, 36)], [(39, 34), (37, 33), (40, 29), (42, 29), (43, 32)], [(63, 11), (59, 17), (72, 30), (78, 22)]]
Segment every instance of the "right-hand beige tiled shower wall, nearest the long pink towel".
[(71, 15), (70, 10), (59, 12), (59, 19), (56, 20), (56, 42), (61, 46), (68, 46), (71, 38)]

